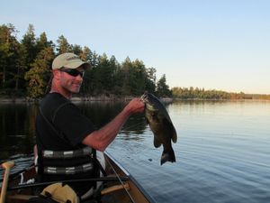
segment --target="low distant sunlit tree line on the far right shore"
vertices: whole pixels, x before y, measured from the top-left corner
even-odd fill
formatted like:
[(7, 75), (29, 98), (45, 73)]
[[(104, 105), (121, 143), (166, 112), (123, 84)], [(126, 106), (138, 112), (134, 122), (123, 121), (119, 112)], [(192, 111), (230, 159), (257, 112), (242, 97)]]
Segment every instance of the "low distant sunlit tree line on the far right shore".
[(172, 88), (172, 94), (180, 99), (270, 99), (270, 95), (233, 93), (204, 88)]

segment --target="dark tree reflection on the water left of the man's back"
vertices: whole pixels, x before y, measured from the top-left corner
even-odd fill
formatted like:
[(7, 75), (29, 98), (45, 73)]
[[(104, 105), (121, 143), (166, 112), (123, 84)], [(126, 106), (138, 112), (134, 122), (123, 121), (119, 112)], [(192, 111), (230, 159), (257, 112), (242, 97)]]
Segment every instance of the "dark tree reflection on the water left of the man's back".
[(14, 154), (31, 152), (36, 114), (34, 105), (0, 105), (0, 160)]

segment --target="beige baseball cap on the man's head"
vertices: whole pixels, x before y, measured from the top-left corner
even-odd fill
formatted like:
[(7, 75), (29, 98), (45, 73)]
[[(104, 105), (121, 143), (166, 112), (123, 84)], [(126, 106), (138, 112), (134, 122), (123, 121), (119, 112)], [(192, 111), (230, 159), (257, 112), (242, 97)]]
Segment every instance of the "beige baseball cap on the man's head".
[(90, 63), (81, 60), (76, 54), (68, 52), (58, 55), (58, 57), (52, 61), (52, 69), (76, 69), (82, 65), (84, 69), (91, 68)]

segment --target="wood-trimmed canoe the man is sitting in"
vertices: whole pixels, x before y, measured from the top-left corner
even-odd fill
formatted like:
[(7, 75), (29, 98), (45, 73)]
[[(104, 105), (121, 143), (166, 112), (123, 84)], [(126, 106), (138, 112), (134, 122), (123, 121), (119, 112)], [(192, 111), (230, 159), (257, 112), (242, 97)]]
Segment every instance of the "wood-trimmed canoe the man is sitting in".
[[(107, 176), (103, 178), (91, 179), (94, 181), (103, 181), (103, 189), (101, 190), (101, 202), (154, 202), (154, 200), (148, 195), (148, 193), (139, 185), (139, 183), (126, 171), (118, 161), (115, 161), (108, 152), (104, 152), (106, 173)], [(3, 165), (3, 164), (2, 164)], [(8, 170), (6, 170), (7, 172)], [(9, 175), (8, 172), (5, 176)], [(36, 172), (34, 166), (25, 169), (20, 174), (9, 176), (8, 184), (3, 180), (2, 187), (5, 185), (7, 189), (1, 188), (1, 199), (5, 199), (6, 203), (22, 203), (26, 202), (29, 198), (34, 197), (33, 189), (37, 188), (39, 184), (47, 184), (53, 182), (44, 183), (25, 183), (19, 184), (21, 176), (23, 175), (23, 182), (31, 180), (35, 176)], [(68, 181), (68, 180), (67, 180)], [(88, 180), (70, 180), (70, 181), (84, 181)], [(2, 191), (3, 190), (3, 191)], [(6, 191), (6, 192), (5, 192)], [(1, 202), (0, 199), (0, 203)]]

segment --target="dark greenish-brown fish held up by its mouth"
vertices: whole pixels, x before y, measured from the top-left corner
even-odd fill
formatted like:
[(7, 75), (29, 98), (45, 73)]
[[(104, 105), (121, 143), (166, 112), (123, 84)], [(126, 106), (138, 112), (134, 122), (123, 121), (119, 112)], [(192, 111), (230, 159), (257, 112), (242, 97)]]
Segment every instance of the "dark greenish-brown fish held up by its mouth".
[(145, 117), (154, 134), (154, 146), (158, 148), (163, 145), (160, 165), (166, 161), (175, 162), (171, 141), (177, 142), (177, 134), (166, 107), (151, 93), (145, 92), (140, 98), (145, 103)]

